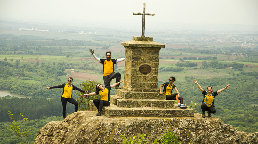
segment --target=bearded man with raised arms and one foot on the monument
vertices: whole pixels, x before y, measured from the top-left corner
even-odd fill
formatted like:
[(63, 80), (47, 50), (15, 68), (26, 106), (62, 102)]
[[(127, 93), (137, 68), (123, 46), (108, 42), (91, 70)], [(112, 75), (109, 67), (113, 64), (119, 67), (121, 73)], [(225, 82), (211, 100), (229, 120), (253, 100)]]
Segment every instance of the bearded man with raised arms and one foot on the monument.
[[(120, 82), (121, 79), (121, 74), (120, 73), (115, 73), (114, 72), (114, 64), (117, 64), (117, 62), (124, 61), (125, 58), (121, 59), (111, 59), (111, 51), (106, 52), (106, 59), (100, 59), (97, 58), (97, 56), (94, 54), (94, 50), (90, 49), (91, 55), (100, 62), (103, 65), (103, 81), (106, 86), (109, 86), (110, 80), (116, 78), (116, 83)], [(119, 87), (120, 84), (115, 86), (115, 89), (121, 89)]]

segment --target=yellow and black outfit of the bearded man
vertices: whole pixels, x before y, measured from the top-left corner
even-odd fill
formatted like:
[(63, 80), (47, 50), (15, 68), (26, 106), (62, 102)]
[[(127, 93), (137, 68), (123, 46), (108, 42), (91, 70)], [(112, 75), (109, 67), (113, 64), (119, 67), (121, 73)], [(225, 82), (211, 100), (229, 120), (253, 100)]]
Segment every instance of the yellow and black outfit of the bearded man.
[[(115, 64), (116, 64), (116, 59), (100, 59), (100, 63), (103, 65), (103, 81), (105, 87), (110, 85), (110, 80), (116, 78), (116, 83), (120, 82), (121, 80), (121, 74), (120, 73), (115, 73)], [(120, 83), (117, 85), (119, 86)]]

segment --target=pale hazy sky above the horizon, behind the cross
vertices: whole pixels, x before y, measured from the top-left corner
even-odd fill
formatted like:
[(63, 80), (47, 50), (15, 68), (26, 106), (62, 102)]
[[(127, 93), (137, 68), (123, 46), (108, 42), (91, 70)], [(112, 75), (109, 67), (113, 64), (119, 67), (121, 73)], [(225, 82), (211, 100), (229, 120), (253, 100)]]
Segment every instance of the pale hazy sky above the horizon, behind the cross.
[(60, 23), (146, 23), (258, 25), (258, 0), (0, 0), (0, 20)]

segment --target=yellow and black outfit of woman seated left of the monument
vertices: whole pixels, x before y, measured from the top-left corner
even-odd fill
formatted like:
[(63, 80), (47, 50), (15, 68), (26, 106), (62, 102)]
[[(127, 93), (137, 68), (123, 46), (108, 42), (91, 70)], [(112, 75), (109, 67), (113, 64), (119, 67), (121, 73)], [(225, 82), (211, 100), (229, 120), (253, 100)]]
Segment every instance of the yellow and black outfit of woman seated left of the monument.
[(98, 112), (102, 111), (103, 106), (109, 106), (110, 105), (110, 98), (109, 98), (110, 90), (111, 90), (111, 87), (107, 86), (107, 87), (104, 87), (103, 92), (101, 90), (95, 92), (97, 95), (98, 94), (101, 95), (100, 100), (96, 99), (96, 98), (93, 100), (93, 103), (97, 107)]

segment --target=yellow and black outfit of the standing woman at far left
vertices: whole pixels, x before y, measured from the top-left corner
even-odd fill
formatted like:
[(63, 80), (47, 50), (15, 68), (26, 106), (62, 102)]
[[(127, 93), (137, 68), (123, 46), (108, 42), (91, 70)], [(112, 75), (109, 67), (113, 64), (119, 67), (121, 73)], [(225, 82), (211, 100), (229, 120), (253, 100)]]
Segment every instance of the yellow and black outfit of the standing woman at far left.
[(62, 92), (62, 96), (61, 96), (61, 102), (62, 102), (62, 106), (63, 106), (63, 118), (66, 117), (66, 103), (69, 102), (71, 104), (74, 104), (74, 111), (77, 112), (78, 111), (78, 102), (72, 98), (72, 90), (78, 90), (82, 93), (84, 93), (85, 91), (79, 89), (78, 87), (76, 87), (75, 85), (70, 85), (68, 86), (67, 83), (61, 84), (59, 86), (52, 86), (50, 88), (63, 88), (63, 92)]

